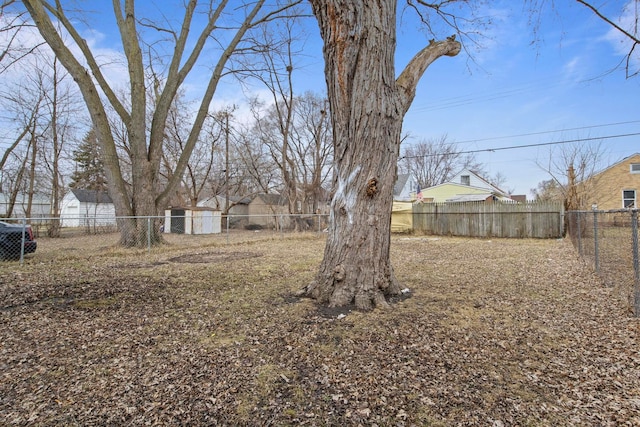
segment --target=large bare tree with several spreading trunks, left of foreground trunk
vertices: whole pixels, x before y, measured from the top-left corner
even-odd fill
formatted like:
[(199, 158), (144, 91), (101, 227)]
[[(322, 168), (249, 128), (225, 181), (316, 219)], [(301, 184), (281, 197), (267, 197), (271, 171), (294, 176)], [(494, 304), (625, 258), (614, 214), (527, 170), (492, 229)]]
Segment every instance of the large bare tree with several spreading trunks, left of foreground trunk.
[[(267, 8), (265, 0), (223, 0), (206, 5), (189, 0), (183, 3), (182, 20), (177, 23), (178, 28), (174, 28), (175, 14), (165, 16), (166, 22), (157, 22), (138, 16), (134, 0), (114, 0), (113, 12), (128, 73), (126, 99), (118, 96), (114, 85), (109, 83), (103, 64), (76, 26), (82, 20), (74, 19), (73, 9), (66, 8), (61, 2), (45, 0), (25, 0), (23, 4), (48, 46), (77, 82), (87, 104), (102, 146), (116, 214), (130, 217), (121, 221), (121, 243), (132, 246), (147, 242), (146, 225), (131, 217), (156, 215), (164, 209), (182, 179), (218, 83), (229, 71), (229, 58), (243, 46), (245, 35), (252, 28), (278, 16), (291, 3)], [(196, 20), (198, 14), (205, 19)], [(203, 25), (196, 29), (198, 22), (203, 22)], [(213, 50), (205, 50), (220, 40), (225, 42), (214, 46)], [(69, 47), (71, 41), (76, 50)], [(76, 55), (76, 51), (80, 54)], [(158, 53), (162, 51), (170, 52), (169, 57), (162, 57)], [(167, 182), (162, 182), (159, 171), (171, 106), (187, 77), (196, 69), (196, 64), (203, 63), (199, 61), (203, 56), (210, 61), (207, 62), (211, 64), (210, 77), (201, 92), (197, 113), (174, 173)], [(150, 87), (158, 93), (153, 106), (148, 98)], [(147, 114), (151, 107), (152, 118), (148, 123)], [(128, 160), (121, 159), (119, 155), (108, 116), (109, 108), (126, 129)], [(127, 161), (131, 162), (130, 182), (123, 173)], [(155, 228), (152, 228), (152, 233), (151, 241), (159, 242), (161, 236), (156, 234)]]

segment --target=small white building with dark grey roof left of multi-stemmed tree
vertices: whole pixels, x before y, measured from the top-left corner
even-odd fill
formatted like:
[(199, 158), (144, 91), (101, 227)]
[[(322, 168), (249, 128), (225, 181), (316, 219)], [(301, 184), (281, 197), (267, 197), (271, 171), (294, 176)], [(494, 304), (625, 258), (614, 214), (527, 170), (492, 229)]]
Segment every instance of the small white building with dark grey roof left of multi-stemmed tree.
[(60, 220), (63, 227), (113, 225), (115, 206), (104, 191), (71, 189), (60, 204)]

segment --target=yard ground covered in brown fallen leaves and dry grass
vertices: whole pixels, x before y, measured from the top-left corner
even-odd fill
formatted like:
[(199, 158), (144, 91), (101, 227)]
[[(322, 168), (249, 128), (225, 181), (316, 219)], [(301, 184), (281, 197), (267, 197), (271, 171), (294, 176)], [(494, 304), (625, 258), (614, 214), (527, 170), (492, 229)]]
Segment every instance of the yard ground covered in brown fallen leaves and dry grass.
[(640, 425), (640, 321), (568, 242), (396, 236), (372, 313), (291, 296), (323, 245), (0, 264), (0, 425)]

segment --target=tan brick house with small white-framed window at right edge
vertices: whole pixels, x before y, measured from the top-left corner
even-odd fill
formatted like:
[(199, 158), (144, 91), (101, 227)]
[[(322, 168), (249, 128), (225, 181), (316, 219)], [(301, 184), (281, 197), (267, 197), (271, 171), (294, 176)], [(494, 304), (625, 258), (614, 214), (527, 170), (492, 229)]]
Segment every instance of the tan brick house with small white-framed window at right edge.
[(640, 153), (632, 154), (577, 185), (586, 208), (614, 210), (638, 207)]

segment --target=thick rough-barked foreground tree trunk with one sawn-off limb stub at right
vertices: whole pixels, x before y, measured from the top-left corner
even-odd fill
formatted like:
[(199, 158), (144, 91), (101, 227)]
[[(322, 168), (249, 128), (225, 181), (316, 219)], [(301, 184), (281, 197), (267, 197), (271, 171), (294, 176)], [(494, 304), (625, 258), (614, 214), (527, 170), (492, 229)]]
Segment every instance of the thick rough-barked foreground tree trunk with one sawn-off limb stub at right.
[(336, 182), (324, 259), (302, 295), (329, 306), (386, 307), (400, 293), (390, 261), (402, 119), (427, 66), (453, 37), (420, 51), (396, 80), (396, 1), (312, 0), (324, 40)]

